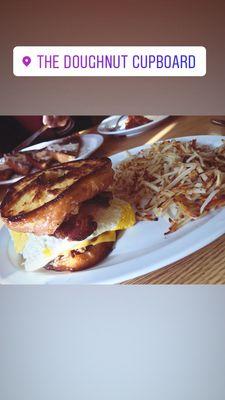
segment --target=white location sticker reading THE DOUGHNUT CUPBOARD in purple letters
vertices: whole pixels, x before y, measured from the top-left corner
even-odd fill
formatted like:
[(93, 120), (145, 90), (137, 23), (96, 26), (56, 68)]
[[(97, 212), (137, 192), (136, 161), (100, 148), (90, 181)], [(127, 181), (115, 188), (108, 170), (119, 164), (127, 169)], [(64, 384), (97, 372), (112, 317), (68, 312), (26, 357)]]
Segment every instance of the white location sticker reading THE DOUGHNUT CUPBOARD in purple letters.
[(16, 46), (15, 76), (205, 76), (203, 46)]

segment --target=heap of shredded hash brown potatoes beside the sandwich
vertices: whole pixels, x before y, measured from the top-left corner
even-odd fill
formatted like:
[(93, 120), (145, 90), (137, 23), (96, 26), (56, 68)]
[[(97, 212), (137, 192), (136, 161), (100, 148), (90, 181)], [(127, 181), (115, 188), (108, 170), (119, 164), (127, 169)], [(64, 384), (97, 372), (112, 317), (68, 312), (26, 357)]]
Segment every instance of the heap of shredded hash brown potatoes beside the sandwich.
[(138, 220), (164, 216), (174, 232), (225, 205), (225, 144), (155, 143), (115, 167), (113, 191), (133, 205)]

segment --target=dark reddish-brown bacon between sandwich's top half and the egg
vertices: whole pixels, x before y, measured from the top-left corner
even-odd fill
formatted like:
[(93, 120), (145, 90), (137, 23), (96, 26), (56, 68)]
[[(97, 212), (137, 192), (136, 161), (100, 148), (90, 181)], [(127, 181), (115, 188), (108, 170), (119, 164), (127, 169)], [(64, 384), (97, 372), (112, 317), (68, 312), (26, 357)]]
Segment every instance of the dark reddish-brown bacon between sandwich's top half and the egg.
[(112, 199), (111, 192), (102, 192), (93, 199), (82, 203), (79, 213), (70, 214), (63, 223), (56, 229), (53, 236), (58, 239), (80, 241), (86, 239), (97, 229), (97, 222), (93, 214), (99, 207), (109, 207)]

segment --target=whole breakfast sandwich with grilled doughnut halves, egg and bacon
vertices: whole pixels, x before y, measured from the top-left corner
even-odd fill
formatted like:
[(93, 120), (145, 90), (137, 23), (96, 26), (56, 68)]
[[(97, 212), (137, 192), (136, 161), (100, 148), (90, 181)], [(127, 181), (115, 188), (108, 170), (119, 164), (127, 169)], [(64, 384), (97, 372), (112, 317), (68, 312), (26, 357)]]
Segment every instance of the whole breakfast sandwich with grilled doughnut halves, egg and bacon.
[(111, 161), (102, 158), (38, 171), (9, 189), (1, 217), (27, 271), (77, 271), (108, 255), (118, 232), (135, 223), (112, 183)]

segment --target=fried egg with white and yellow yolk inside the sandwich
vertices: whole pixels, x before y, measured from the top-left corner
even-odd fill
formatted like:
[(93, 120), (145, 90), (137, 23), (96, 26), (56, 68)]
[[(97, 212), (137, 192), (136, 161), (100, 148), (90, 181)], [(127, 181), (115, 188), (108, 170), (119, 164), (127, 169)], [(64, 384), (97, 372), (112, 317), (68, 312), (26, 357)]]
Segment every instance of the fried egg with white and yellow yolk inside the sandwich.
[(26, 271), (35, 271), (44, 267), (60, 254), (88, 245), (116, 240), (115, 232), (135, 224), (135, 214), (131, 205), (114, 198), (110, 206), (101, 208), (95, 215), (97, 229), (83, 241), (69, 241), (54, 236), (37, 236), (32, 233), (10, 231), (16, 253), (23, 256)]

